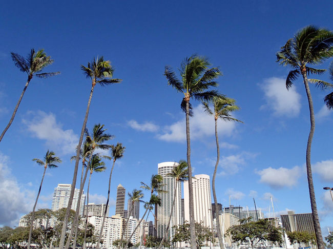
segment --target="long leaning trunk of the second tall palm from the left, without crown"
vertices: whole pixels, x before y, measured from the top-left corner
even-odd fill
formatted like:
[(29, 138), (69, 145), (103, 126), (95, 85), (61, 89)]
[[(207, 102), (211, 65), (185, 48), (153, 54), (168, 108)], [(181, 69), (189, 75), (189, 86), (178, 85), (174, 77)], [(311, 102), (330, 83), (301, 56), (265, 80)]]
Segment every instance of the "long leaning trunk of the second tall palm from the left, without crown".
[(71, 193), (70, 193), (70, 196), (69, 196), (69, 201), (68, 201), (68, 205), (67, 205), (67, 210), (66, 210), (66, 215), (65, 215), (65, 218), (64, 218), (63, 227), (61, 229), (59, 249), (63, 249), (64, 248), (64, 244), (65, 244), (67, 223), (68, 223), (68, 218), (69, 218), (69, 214), (70, 214), (70, 211), (71, 211), (71, 206), (72, 206), (73, 197), (74, 197), (74, 190), (75, 190), (75, 185), (76, 185), (78, 162), (79, 162), (79, 158), (80, 158), (80, 148), (81, 148), (82, 140), (83, 140), (85, 129), (86, 129), (86, 124), (87, 124), (88, 115), (89, 115), (90, 102), (91, 102), (91, 99), (92, 99), (92, 96), (93, 96), (95, 85), (96, 85), (96, 82), (93, 81), (92, 82), (92, 87), (91, 87), (91, 90), (90, 90), (90, 96), (89, 96), (89, 100), (88, 100), (88, 106), (87, 106), (87, 110), (86, 110), (86, 116), (85, 116), (85, 119), (84, 119), (84, 123), (82, 124), (80, 139), (79, 139), (79, 142), (78, 142), (78, 145), (77, 145), (78, 150), (76, 152), (76, 160), (75, 160), (75, 167), (74, 167), (72, 188), (71, 188)]

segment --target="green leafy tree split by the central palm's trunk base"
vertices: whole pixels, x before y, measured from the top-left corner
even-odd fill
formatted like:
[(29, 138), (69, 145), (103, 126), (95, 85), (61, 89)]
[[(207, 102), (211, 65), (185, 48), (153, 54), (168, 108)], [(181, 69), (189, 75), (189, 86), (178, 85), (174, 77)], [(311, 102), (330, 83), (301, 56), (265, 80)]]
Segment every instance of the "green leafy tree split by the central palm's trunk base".
[[(172, 242), (190, 242), (190, 224), (185, 221), (182, 225), (174, 226), (176, 229), (175, 236)], [(209, 227), (205, 227), (203, 223), (195, 222), (196, 244), (198, 248), (201, 248), (204, 242), (213, 241), (213, 233)]]

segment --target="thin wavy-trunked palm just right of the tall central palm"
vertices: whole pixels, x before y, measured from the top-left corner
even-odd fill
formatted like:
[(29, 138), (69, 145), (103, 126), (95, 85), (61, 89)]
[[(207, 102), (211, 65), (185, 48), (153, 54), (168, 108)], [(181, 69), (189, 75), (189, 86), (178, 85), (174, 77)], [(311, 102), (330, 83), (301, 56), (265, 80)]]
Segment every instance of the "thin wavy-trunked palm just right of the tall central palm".
[(219, 146), (219, 138), (217, 135), (217, 120), (218, 118), (221, 118), (224, 121), (238, 121), (242, 122), (236, 118), (231, 117), (231, 112), (239, 110), (239, 107), (235, 105), (235, 99), (227, 98), (225, 96), (219, 96), (216, 98), (213, 98), (213, 108), (214, 111), (212, 111), (209, 108), (209, 105), (207, 102), (203, 102), (203, 109), (204, 111), (209, 114), (213, 115), (215, 119), (215, 139), (216, 139), (216, 149), (217, 149), (217, 159), (215, 163), (214, 168), (214, 174), (213, 174), (213, 180), (212, 180), (212, 189), (213, 189), (213, 197), (214, 197), (214, 203), (215, 203), (215, 217), (216, 217), (216, 223), (217, 223), (217, 234), (220, 241), (220, 247), (221, 249), (224, 248), (224, 244), (222, 243), (222, 233), (221, 233), (221, 227), (220, 227), (220, 220), (218, 215), (218, 204), (217, 204), (217, 198), (216, 198), (216, 192), (215, 192), (215, 177), (217, 172), (217, 167), (220, 161), (220, 146)]

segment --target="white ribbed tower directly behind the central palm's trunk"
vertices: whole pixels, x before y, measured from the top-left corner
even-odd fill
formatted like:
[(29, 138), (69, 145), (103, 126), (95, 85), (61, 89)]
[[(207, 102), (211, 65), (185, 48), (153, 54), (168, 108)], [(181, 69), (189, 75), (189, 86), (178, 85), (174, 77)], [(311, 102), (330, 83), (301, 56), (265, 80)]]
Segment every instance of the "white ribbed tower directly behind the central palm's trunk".
[[(195, 175), (193, 182), (194, 220), (202, 222), (204, 226), (211, 227), (212, 224), (212, 198), (209, 175)], [(185, 220), (190, 221), (189, 207), (189, 181), (184, 181), (184, 213)]]

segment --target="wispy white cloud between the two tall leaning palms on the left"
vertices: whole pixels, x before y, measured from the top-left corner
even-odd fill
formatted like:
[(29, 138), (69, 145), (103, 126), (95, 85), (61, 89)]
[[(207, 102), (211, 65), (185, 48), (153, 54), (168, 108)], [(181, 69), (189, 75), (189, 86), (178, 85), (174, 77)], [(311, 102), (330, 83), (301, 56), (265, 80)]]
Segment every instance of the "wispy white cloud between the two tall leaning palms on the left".
[[(78, 136), (73, 130), (63, 130), (62, 124), (56, 121), (53, 113), (43, 111), (32, 112), (31, 120), (23, 119), (27, 130), (34, 137), (46, 140), (46, 145), (52, 150), (60, 151), (61, 154), (72, 154), (78, 143)], [(56, 151), (56, 152), (57, 152)]]

